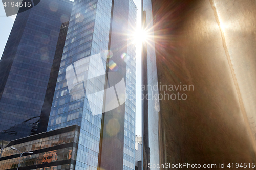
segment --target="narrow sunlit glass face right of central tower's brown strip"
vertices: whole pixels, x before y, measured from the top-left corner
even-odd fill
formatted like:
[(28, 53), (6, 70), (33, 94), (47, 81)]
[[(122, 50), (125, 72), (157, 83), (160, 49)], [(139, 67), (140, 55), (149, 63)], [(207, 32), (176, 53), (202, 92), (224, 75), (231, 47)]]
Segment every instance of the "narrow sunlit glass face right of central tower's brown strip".
[(127, 54), (123, 58), (126, 61), (126, 90), (128, 98), (125, 102), (124, 117), (124, 145), (123, 145), (123, 169), (135, 169), (135, 109), (136, 109), (136, 43), (134, 32), (136, 31), (137, 7), (129, 0), (128, 16), (128, 42)]

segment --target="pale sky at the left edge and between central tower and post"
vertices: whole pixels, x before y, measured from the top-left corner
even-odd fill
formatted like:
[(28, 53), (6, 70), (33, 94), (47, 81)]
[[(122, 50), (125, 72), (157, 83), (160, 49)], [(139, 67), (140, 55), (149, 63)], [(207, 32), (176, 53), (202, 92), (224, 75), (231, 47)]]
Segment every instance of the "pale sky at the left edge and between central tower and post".
[[(127, 0), (129, 1), (129, 0)], [(137, 30), (141, 28), (141, 0), (133, 0), (137, 6)], [(2, 57), (6, 42), (11, 32), (16, 15), (6, 17), (4, 6), (0, 5), (0, 59)], [(135, 134), (142, 134), (141, 129), (141, 43), (137, 43), (136, 56), (136, 130)]]

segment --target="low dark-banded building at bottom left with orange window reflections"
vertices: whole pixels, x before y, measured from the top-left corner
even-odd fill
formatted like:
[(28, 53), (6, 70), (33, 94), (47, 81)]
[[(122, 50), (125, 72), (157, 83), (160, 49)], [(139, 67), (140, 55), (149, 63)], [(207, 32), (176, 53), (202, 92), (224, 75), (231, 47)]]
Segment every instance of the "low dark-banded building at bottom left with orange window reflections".
[[(80, 127), (77, 125), (13, 140), (4, 149), (0, 169), (74, 170)], [(20, 158), (16, 148), (24, 153)], [(20, 159), (20, 163), (19, 163)]]

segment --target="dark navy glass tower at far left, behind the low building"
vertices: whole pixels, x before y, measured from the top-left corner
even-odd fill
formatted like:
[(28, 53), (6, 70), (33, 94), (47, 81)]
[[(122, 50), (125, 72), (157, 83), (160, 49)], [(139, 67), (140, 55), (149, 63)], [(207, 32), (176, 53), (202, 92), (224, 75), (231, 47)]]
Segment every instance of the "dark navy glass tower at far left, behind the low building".
[(0, 60), (0, 140), (36, 133), (59, 28), (71, 8), (68, 0), (41, 0), (17, 14)]

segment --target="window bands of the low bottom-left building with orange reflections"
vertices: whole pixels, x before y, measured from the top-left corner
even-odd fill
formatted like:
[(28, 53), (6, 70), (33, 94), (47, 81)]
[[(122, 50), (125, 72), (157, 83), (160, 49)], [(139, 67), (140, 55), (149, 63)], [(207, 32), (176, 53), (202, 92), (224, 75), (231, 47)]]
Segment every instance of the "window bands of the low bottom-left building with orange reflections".
[[(6, 147), (4, 149), (4, 151), (2, 153), (2, 158), (6, 157), (6, 156), (18, 154), (17, 151), (12, 150), (11, 147), (18, 149), (21, 152), (26, 152), (26, 151), (36, 151), (36, 150), (40, 150), (40, 149), (54, 147), (56, 145), (61, 145), (61, 144), (70, 143), (70, 142), (77, 143), (78, 142), (78, 133), (77, 132), (75, 133), (75, 132), (76, 131), (73, 130), (71, 132), (61, 133), (61, 134), (53, 135), (50, 137), (45, 137), (45, 138), (41, 138), (41, 139), (28, 141), (28, 142), (21, 143), (21, 144), (11, 145), (10, 147)], [(73, 148), (69, 147), (69, 148), (63, 148), (63, 149), (43, 152), (43, 153), (39, 153), (39, 154), (23, 156), (20, 159), (20, 167), (50, 163), (50, 162), (61, 161), (61, 160), (69, 160), (69, 159), (75, 160), (76, 159), (76, 155), (75, 155), (76, 150), (77, 149), (74, 147)], [(18, 162), (19, 162), (19, 157), (0, 161), (0, 169), (17, 168)], [(52, 167), (39, 168), (39, 169), (40, 170), (41, 169), (72, 169), (71, 165), (68, 164), (68, 165), (64, 165), (64, 166), (60, 165), (60, 166), (52, 166)], [(38, 169), (36, 169), (36, 170), (38, 170)]]

